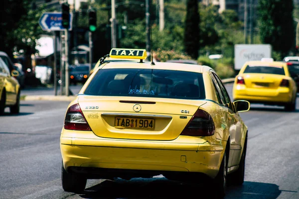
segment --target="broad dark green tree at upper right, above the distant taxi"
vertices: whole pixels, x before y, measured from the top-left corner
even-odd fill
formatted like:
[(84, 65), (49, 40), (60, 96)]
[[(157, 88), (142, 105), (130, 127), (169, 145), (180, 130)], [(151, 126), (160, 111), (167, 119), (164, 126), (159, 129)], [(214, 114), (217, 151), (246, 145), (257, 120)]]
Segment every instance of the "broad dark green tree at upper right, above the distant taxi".
[(261, 41), (271, 44), (281, 57), (295, 46), (293, 9), (293, 0), (259, 0)]

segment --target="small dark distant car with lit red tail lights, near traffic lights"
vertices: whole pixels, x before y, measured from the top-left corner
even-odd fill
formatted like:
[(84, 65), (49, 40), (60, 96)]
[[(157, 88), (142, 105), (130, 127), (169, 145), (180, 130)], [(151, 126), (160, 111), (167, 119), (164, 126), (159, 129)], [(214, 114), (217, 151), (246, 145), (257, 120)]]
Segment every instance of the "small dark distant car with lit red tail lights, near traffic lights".
[(89, 65), (72, 65), (69, 67), (70, 84), (85, 83), (89, 75)]

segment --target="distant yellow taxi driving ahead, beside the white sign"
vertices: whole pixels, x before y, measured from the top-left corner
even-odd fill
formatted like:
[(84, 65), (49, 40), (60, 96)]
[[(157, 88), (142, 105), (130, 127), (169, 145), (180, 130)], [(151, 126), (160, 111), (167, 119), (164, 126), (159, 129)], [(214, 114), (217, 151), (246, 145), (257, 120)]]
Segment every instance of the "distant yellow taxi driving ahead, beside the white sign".
[(234, 100), (283, 105), (290, 111), (296, 108), (296, 92), (287, 63), (273, 59), (246, 62), (233, 85)]

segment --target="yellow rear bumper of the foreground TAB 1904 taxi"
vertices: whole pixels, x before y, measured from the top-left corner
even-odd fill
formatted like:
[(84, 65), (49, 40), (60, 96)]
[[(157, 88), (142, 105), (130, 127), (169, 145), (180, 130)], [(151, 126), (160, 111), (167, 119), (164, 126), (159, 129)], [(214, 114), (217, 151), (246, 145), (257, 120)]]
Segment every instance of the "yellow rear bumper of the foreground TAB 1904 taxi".
[[(96, 169), (117, 169), (151, 171), (157, 175), (163, 172), (196, 172), (215, 178), (224, 153), (223, 146), (215, 144), (141, 140), (126, 143), (116, 139), (109, 143), (107, 139), (82, 139), (82, 145), (76, 145), (71, 140), (69, 137), (60, 138), (64, 168), (88, 174), (93, 171), (96, 174)], [(80, 143), (80, 139), (75, 140)]]

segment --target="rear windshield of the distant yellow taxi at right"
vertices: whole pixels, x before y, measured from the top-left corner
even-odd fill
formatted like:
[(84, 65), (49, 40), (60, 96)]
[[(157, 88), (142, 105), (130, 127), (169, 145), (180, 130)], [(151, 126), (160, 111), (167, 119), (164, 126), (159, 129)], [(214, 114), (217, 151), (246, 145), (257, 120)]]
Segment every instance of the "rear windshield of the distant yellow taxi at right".
[(286, 75), (283, 66), (247, 66), (244, 73)]

